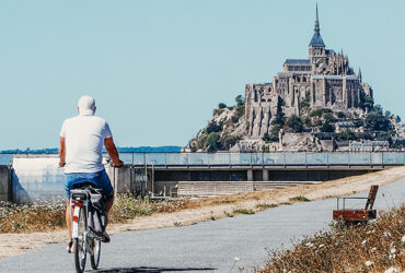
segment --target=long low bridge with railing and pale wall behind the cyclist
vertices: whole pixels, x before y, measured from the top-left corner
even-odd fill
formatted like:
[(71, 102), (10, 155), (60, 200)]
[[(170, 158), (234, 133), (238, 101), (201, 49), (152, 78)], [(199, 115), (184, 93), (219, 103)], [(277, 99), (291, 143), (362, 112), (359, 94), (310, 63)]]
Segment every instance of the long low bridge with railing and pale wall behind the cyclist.
[[(107, 168), (115, 191), (155, 195), (288, 187), (405, 165), (405, 152), (120, 153), (120, 158), (124, 168)], [(63, 179), (56, 154), (0, 155), (0, 200), (54, 199), (63, 195)]]

